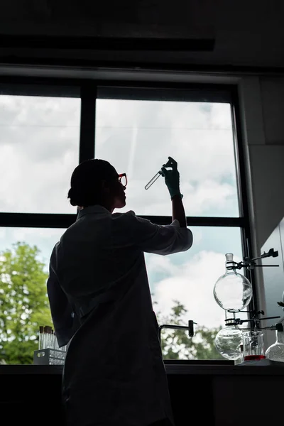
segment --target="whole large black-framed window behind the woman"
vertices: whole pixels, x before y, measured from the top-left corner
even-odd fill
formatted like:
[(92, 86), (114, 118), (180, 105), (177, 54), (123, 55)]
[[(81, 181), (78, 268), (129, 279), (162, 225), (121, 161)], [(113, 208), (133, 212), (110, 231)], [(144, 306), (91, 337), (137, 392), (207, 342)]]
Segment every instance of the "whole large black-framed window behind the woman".
[[(229, 86), (137, 83), (129, 87), (125, 82), (79, 80), (1, 83), (0, 251), (14, 256), (13, 282), (17, 282), (17, 259), (23, 266), (23, 256), (27, 260), (35, 256), (39, 270), (30, 265), (31, 270), (41, 271), (40, 280), (42, 274), (46, 278), (54, 244), (76, 219), (76, 210), (67, 200), (72, 170), (87, 158), (104, 158), (119, 173), (127, 174), (124, 211), (133, 209), (157, 224), (169, 224), (171, 204), (163, 178), (149, 190), (144, 187), (170, 155), (178, 160), (194, 244), (190, 251), (172, 256), (146, 254), (154, 310), (160, 324), (194, 320), (197, 327), (216, 331), (224, 324), (224, 311), (214, 302), (213, 287), (224, 273), (224, 255), (232, 251), (241, 260), (249, 241), (237, 112), (235, 88)], [(4, 288), (16, 300), (6, 271), (9, 263), (3, 256), (0, 263), (0, 302), (6, 300)], [(18, 307), (24, 305), (27, 311), (9, 311), (10, 321), (19, 318), (21, 322), (18, 340), (9, 332), (6, 352), (0, 347), (0, 361), (6, 358), (9, 364), (31, 362), (13, 359), (11, 354), (23, 344), (23, 353), (35, 346), (31, 325), (37, 327), (38, 317), (28, 317), (26, 290), (22, 285), (23, 297), (17, 300)], [(176, 303), (186, 310), (182, 317), (170, 316)], [(0, 334), (7, 307), (5, 312), (0, 317)], [(50, 320), (48, 315), (44, 318)], [(170, 333), (163, 330), (167, 343)], [(204, 342), (204, 351), (208, 344)], [(178, 347), (174, 340), (172, 346)], [(164, 354), (170, 358), (173, 351)], [(207, 351), (206, 356), (216, 354)]]

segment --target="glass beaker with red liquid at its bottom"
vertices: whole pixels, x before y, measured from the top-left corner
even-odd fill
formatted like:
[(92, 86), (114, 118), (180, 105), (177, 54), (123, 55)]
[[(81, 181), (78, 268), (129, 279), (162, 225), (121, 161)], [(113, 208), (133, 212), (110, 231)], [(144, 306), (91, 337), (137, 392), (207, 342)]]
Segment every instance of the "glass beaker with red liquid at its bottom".
[(254, 329), (243, 332), (244, 361), (258, 361), (266, 358), (264, 353), (264, 333)]

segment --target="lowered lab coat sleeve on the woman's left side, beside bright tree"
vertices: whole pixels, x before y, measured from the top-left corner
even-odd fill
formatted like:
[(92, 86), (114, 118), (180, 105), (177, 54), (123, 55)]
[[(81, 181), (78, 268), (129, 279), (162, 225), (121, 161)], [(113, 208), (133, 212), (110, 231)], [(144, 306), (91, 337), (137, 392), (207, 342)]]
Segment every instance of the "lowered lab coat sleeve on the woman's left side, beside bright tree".
[(55, 334), (58, 339), (58, 346), (65, 346), (76, 329), (75, 313), (72, 310), (67, 296), (60, 287), (56, 269), (56, 247), (50, 258), (49, 276), (47, 280), (48, 300), (50, 304), (50, 312), (53, 320)]

